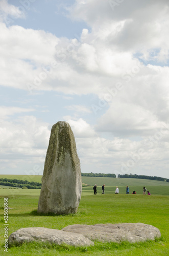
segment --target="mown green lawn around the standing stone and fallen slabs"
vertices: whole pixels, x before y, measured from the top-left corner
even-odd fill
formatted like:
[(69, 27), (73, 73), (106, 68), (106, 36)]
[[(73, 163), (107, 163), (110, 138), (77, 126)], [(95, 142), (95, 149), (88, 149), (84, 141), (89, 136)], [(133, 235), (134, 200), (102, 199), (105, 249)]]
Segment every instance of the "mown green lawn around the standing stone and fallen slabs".
[[(109, 189), (108, 189), (109, 188)], [(0, 255), (5, 255), (4, 243), (4, 197), (9, 202), (9, 234), (23, 227), (47, 227), (62, 229), (72, 224), (96, 223), (136, 223), (141, 222), (159, 228), (161, 239), (144, 243), (95, 243), (94, 247), (74, 248), (71, 246), (54, 246), (24, 244), (8, 249), (8, 255), (168, 255), (168, 196), (165, 195), (126, 195), (114, 194), (115, 187), (107, 187), (106, 194), (93, 196), (92, 187), (83, 188), (78, 213), (70, 216), (38, 216), (36, 212), (39, 189), (1, 189), (1, 245)], [(139, 187), (136, 187), (139, 190)], [(154, 188), (156, 190), (156, 187)], [(164, 189), (161, 188), (161, 191)], [(11, 190), (14, 191), (11, 194)], [(122, 190), (122, 189), (120, 189)], [(136, 189), (135, 189), (136, 190)], [(153, 190), (153, 188), (152, 188)], [(113, 192), (112, 192), (113, 191)], [(2, 192), (5, 194), (2, 194)], [(142, 191), (141, 191), (142, 193)]]

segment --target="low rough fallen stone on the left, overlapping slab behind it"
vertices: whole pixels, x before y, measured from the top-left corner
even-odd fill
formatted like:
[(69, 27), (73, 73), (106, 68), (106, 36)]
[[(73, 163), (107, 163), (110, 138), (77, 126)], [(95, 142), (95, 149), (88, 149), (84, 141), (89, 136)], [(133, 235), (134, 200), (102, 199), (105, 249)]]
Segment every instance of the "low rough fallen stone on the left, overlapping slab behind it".
[(88, 238), (82, 234), (64, 232), (58, 229), (44, 227), (20, 228), (10, 234), (8, 238), (9, 245), (20, 245), (23, 242), (49, 242), (61, 245), (63, 243), (72, 246), (90, 246), (93, 245)]

